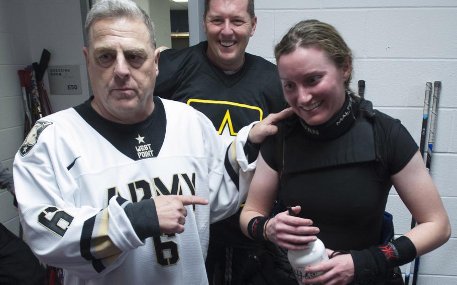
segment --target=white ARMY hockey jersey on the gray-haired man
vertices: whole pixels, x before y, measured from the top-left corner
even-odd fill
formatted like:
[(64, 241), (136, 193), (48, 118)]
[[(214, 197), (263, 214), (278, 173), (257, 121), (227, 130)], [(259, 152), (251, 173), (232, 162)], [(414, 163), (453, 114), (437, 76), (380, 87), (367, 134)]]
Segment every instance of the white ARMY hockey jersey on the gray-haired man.
[[(26, 240), (43, 262), (64, 269), (65, 284), (208, 283), (209, 223), (246, 199), (247, 187), (237, 188), (255, 167), (243, 150), (251, 126), (226, 149), (203, 114), (154, 101), (151, 117), (133, 125), (104, 120), (88, 102), (49, 115), (16, 155)], [(126, 206), (167, 194), (209, 205), (186, 206), (183, 233), (141, 240)]]

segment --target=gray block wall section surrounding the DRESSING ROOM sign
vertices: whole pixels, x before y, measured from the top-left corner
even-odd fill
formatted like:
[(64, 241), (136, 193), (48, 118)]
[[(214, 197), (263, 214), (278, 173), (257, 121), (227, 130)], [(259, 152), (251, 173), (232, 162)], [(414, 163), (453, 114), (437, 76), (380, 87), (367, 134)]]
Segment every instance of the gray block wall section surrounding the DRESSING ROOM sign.
[[(81, 91), (79, 95), (51, 94), (54, 111), (85, 101), (89, 96), (85, 59), (82, 53), (83, 31), (77, 0), (25, 0), (30, 39), (30, 54), (39, 61), (43, 49), (51, 53), (49, 65), (79, 65)], [(47, 73), (44, 77), (48, 84)]]

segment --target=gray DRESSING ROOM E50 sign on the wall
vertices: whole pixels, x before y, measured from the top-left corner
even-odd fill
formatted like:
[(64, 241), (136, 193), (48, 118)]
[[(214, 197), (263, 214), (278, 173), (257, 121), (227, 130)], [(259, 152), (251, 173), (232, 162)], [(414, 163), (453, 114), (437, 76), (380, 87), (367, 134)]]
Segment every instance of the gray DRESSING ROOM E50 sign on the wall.
[(82, 94), (79, 65), (48, 66), (51, 94)]

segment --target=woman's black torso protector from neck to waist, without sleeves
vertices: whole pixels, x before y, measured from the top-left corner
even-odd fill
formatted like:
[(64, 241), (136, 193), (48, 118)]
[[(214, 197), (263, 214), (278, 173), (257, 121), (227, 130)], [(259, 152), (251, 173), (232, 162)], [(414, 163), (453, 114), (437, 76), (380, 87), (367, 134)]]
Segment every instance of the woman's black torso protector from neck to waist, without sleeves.
[[(331, 133), (340, 135), (316, 138), (316, 131), (295, 122), (292, 127), (280, 128), (280, 139), (275, 142), (282, 144), (275, 149), (283, 150), (276, 157), (278, 170), (282, 167), (278, 196), (286, 206), (300, 205), (299, 216), (313, 220), (320, 229), (317, 236), (334, 250), (378, 244), (392, 186), (381, 160), (371, 102), (355, 102), (349, 113), (347, 106), (348, 98), (341, 112), (330, 120), (339, 121), (340, 128), (318, 127), (319, 134), (333, 128)], [(344, 114), (346, 124), (340, 120)]]

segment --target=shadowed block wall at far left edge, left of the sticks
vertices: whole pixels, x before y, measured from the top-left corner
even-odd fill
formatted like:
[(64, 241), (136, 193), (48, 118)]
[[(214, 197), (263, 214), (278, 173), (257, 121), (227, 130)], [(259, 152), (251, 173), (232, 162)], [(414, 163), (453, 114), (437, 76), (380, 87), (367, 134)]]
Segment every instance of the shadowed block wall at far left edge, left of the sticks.
[[(18, 70), (31, 63), (25, 5), (0, 0), (0, 160), (10, 170), (24, 140), (24, 111)], [(16, 235), (19, 218), (13, 196), (0, 189), (0, 222)]]

